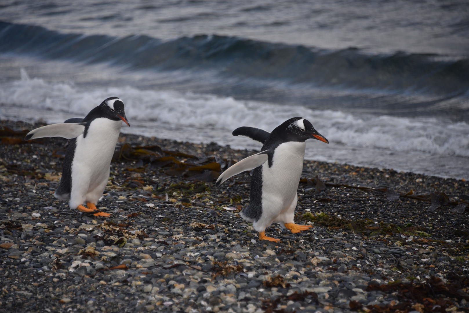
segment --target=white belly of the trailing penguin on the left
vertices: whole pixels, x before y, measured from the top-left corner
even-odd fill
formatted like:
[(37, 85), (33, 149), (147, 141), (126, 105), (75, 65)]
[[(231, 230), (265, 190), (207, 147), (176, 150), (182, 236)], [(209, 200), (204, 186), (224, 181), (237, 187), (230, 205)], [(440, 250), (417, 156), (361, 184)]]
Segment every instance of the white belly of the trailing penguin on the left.
[(97, 118), (91, 122), (86, 137), (76, 138), (71, 168), (71, 208), (85, 202), (96, 204), (102, 196), (121, 126), (122, 121)]

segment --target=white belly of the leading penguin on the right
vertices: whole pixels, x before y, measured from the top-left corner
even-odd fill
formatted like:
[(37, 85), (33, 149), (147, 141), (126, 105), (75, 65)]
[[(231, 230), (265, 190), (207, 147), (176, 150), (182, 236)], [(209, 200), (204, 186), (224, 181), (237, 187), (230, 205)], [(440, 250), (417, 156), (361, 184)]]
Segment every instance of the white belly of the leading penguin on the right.
[(304, 142), (287, 142), (279, 145), (272, 159), (262, 165), (262, 216), (273, 221), (286, 212), (296, 197), (303, 172)]

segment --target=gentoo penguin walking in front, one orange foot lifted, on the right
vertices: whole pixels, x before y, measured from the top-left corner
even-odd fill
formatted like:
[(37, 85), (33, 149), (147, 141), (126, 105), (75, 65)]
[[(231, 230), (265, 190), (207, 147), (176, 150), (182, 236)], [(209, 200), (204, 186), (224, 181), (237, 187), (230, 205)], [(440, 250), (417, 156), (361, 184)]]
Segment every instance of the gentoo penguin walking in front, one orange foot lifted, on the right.
[(264, 144), (261, 152), (239, 161), (223, 172), (215, 186), (243, 171), (254, 169), (251, 178), (250, 206), (243, 208), (241, 216), (252, 221), (259, 239), (279, 242), (265, 236), (272, 222), (298, 233), (311, 226), (293, 222), (298, 202), (296, 190), (303, 171), (306, 139), (329, 141), (302, 117), (294, 117), (269, 133), (256, 127), (243, 126), (233, 131), (234, 136), (247, 136)]

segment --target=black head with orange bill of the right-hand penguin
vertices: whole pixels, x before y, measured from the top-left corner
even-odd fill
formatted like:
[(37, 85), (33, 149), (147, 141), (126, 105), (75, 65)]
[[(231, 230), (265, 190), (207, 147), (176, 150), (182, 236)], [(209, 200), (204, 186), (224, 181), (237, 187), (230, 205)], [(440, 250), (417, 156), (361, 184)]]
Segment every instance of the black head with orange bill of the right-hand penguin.
[[(326, 144), (329, 143), (323, 135), (319, 134), (317, 130), (314, 129), (310, 121), (304, 119), (303, 117), (294, 117), (285, 122), (283, 122), (279, 127), (280, 131), (285, 133), (286, 139), (288, 141), (306, 141), (306, 139), (318, 139)], [(276, 129), (276, 130), (277, 130)], [(273, 131), (272, 131), (273, 132)]]

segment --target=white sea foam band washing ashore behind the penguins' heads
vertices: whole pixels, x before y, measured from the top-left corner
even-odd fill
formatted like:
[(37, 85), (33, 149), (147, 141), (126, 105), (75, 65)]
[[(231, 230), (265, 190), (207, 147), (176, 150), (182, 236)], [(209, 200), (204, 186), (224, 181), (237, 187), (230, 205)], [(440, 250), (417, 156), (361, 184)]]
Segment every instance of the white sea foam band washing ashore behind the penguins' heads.
[[(202, 142), (211, 141), (211, 138), (194, 137), (197, 130), (207, 135), (207, 130), (231, 132), (239, 126), (251, 125), (271, 131), (288, 118), (302, 116), (331, 144), (469, 157), (469, 124), (466, 122), (352, 115), (342, 111), (240, 101), (232, 97), (191, 92), (138, 90), (129, 86), (81, 90), (68, 83), (31, 79), (25, 70), (21, 71), (21, 77), (15, 82), (0, 84), (0, 103), (5, 109), (23, 108), (23, 116), (19, 117), (25, 119), (37, 116), (37, 113), (26, 110), (28, 108), (34, 109), (34, 112), (44, 110), (84, 116), (103, 99), (118, 96), (125, 101), (126, 114), (131, 123), (154, 122), (172, 129), (188, 130), (193, 132), (192, 139)], [(46, 116), (47, 122), (61, 122), (54, 119), (54, 114)]]

